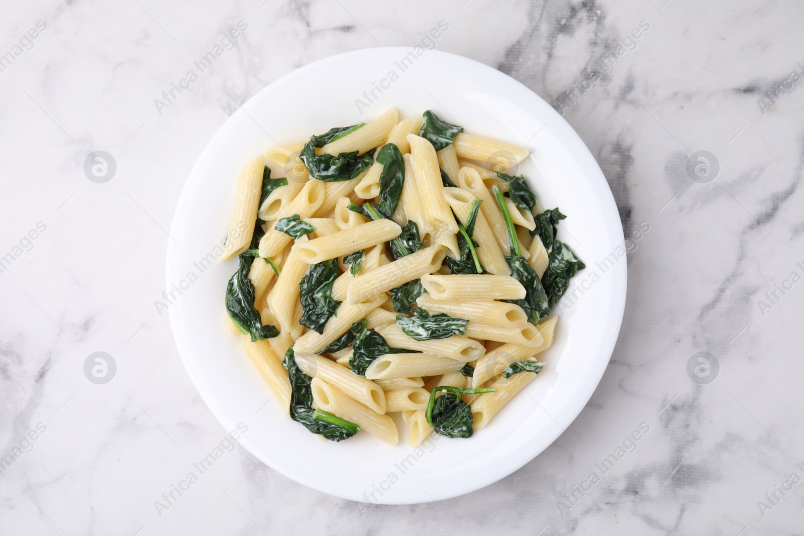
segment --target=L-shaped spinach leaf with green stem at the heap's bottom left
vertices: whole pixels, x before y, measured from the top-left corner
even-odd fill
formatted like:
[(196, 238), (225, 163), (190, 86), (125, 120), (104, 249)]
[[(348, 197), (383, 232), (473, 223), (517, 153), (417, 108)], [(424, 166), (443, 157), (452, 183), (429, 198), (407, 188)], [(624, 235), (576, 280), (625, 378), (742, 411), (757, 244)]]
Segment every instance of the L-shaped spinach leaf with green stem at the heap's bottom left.
[[(310, 383), (313, 380), (302, 372), (296, 364), (293, 346), (285, 354), (282, 366), (288, 370), (288, 379), (290, 381), (291, 419), (303, 424), (310, 432), (333, 441), (349, 439), (358, 432), (360, 427), (357, 424), (337, 417), (336, 419), (330, 419), (328, 415), (332, 415), (331, 413), (323, 415), (326, 411), (318, 413), (319, 410), (312, 409), (313, 390), (310, 388)], [(318, 413), (318, 418), (316, 418), (316, 413)], [(334, 417), (334, 415), (332, 416)]]

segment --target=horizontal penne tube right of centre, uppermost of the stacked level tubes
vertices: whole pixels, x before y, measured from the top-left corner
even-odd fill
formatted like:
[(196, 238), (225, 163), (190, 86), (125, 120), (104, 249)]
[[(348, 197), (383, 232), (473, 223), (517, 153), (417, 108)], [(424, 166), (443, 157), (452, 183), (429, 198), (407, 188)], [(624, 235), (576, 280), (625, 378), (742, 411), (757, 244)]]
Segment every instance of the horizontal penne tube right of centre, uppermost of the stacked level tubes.
[(525, 288), (511, 276), (421, 276), (425, 290), (437, 300), (522, 300)]

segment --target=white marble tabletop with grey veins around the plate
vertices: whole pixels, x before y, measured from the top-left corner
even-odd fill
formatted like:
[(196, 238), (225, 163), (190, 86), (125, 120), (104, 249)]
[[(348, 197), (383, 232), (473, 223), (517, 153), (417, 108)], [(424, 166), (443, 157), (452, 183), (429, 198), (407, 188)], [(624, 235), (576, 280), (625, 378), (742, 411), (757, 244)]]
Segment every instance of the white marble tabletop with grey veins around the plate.
[[(13, 258), (0, 273), (0, 456), (19, 454), (0, 475), (0, 533), (804, 534), (804, 484), (790, 481), (804, 477), (804, 283), (765, 298), (804, 275), (804, 84), (786, 82), (802, 72), (804, 6), (61, 1), (4, 2), (0, 17), (0, 55), (21, 39), (30, 48), (0, 72), (0, 256)], [(438, 48), (556, 108), (650, 25), (565, 111), (626, 235), (650, 226), (628, 255), (630, 297), (600, 387), (542, 455), (464, 497), (361, 511), (238, 446), (159, 517), (154, 501), (226, 433), (154, 309), (191, 166), (266, 84), (341, 51), (414, 44), (442, 19)], [(160, 115), (154, 99), (240, 20), (236, 50)], [(29, 47), (38, 21), (47, 28)], [(775, 84), (788, 91), (763, 113)], [(84, 175), (97, 149), (117, 162), (105, 184)], [(714, 182), (687, 174), (699, 150), (720, 162)], [(117, 362), (111, 383), (84, 377), (95, 351)], [(709, 385), (687, 375), (699, 351), (720, 362)], [(562, 517), (557, 502), (640, 423), (650, 432), (636, 452)], [(28, 442), (37, 425), (46, 431)]]

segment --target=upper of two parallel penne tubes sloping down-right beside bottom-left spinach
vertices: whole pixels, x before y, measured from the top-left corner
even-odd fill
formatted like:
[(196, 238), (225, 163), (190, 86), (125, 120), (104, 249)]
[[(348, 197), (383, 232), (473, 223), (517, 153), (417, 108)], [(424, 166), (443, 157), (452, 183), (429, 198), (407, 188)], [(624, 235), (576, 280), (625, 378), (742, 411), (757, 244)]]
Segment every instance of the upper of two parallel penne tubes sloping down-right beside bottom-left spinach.
[(296, 352), (295, 358), (301, 371), (310, 378), (318, 378), (329, 383), (344, 395), (357, 400), (380, 415), (385, 413), (385, 392), (379, 385), (355, 374), (346, 366), (338, 365), (318, 354)]

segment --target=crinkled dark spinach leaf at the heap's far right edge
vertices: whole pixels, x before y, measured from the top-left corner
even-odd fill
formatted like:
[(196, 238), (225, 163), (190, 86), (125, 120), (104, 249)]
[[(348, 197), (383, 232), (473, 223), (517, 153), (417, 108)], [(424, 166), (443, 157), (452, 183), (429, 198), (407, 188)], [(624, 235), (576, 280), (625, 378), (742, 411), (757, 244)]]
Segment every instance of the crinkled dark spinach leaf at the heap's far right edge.
[(548, 252), (548, 269), (542, 276), (542, 285), (551, 309), (567, 292), (570, 278), (586, 268), (586, 264), (578, 259), (567, 244), (556, 239), (558, 223), (566, 217), (557, 208), (544, 211), (535, 216), (536, 227), (531, 231), (531, 235), (541, 239)]

